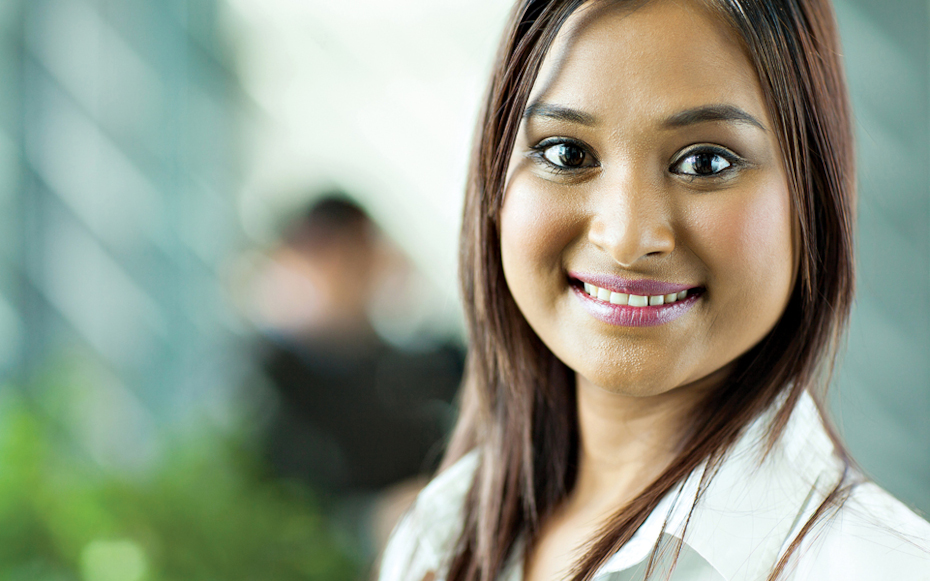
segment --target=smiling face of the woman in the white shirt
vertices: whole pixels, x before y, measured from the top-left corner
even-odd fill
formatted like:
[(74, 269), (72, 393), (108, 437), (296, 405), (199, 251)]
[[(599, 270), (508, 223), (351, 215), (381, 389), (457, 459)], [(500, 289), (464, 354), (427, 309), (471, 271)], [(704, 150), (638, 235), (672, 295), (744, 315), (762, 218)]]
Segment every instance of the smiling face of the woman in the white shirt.
[(517, 305), (579, 382), (628, 395), (725, 368), (775, 325), (796, 270), (756, 72), (699, 4), (575, 12), (508, 168), (501, 254)]

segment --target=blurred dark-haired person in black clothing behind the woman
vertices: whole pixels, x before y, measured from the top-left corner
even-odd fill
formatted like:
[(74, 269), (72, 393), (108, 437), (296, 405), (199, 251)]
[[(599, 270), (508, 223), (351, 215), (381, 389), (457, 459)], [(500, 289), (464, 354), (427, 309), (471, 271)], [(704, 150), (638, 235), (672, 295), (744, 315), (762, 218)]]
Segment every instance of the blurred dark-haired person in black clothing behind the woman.
[(401, 301), (410, 267), (342, 192), (291, 220), (269, 259), (255, 281), (277, 400), (268, 458), (317, 489), (370, 560), (438, 462), (461, 349), (401, 349), (376, 332), (372, 305)]

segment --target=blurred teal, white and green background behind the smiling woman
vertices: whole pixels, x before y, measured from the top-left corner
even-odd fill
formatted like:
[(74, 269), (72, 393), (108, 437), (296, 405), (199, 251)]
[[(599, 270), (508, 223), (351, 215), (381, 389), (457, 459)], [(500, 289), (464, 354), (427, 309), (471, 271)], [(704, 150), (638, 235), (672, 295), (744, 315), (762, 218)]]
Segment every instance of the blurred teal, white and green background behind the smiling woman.
[[(836, 4), (861, 185), (834, 408), (926, 515), (930, 7)], [(508, 9), (0, 3), (0, 580), (365, 578), (453, 417), (459, 209)], [(331, 421), (335, 384), (397, 442)]]

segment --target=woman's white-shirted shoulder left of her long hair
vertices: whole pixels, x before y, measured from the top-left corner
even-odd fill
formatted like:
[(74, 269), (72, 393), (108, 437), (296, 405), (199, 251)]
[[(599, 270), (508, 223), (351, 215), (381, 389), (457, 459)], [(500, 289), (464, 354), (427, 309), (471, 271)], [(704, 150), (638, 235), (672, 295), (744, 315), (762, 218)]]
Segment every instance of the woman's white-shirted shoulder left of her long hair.
[(478, 460), (477, 451), (470, 452), (417, 496), (384, 551), (380, 581), (419, 581), (445, 563), (462, 531), (462, 511)]

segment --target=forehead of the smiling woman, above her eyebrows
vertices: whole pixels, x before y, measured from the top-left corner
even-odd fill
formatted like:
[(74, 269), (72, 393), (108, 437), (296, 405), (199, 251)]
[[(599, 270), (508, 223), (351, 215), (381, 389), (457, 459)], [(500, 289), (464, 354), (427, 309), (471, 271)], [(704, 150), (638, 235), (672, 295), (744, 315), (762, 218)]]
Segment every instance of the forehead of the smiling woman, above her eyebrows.
[(755, 69), (735, 32), (701, 0), (595, 1), (549, 50), (530, 102), (595, 117), (662, 117), (708, 103), (767, 118)]

